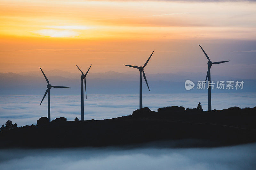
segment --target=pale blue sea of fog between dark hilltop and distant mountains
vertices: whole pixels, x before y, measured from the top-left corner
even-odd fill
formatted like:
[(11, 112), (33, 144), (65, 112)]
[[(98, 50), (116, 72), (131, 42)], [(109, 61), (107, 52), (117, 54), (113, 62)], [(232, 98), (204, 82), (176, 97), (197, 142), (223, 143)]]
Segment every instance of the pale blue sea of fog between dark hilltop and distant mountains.
[[(47, 117), (47, 96), (41, 105), (42, 95), (0, 96), (0, 126), (7, 120), (18, 126), (36, 124)], [(196, 107), (201, 102), (207, 110), (207, 93), (144, 94), (143, 107), (157, 111), (159, 107)], [(212, 93), (212, 109), (238, 106), (255, 107), (256, 93)], [(139, 107), (139, 95), (88, 95), (84, 99), (84, 119), (107, 119), (132, 114)], [(51, 119), (66, 117), (68, 121), (81, 118), (81, 95), (51, 95)]]

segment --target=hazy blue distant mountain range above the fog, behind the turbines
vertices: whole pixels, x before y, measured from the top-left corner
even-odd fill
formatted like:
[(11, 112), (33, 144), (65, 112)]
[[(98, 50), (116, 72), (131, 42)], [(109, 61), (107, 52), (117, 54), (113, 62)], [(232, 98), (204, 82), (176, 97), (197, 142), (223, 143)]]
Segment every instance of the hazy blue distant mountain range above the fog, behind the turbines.
[[(52, 94), (80, 94), (81, 73), (70, 73), (62, 70), (45, 71), (52, 85), (70, 86), (68, 89), (55, 89)], [(150, 92), (142, 80), (143, 93), (200, 93), (196, 90), (197, 81), (205, 79), (205, 73), (177, 72), (146, 74)], [(240, 80), (227, 76), (211, 75), (212, 80)], [(89, 94), (131, 94), (139, 93), (139, 71), (119, 73), (108, 71), (90, 73), (86, 76), (87, 95)], [(191, 80), (195, 88), (187, 91), (184, 83)], [(0, 95), (44, 94), (47, 82), (41, 71), (23, 73), (0, 73)], [(244, 80), (243, 90), (212, 90), (212, 92), (256, 92), (256, 80)]]

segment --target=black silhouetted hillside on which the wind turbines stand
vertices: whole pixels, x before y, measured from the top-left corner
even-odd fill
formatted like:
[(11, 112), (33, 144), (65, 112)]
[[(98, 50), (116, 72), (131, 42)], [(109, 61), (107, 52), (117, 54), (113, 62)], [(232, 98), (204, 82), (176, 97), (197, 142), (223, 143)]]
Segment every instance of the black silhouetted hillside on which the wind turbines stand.
[[(184, 108), (184, 107), (183, 107)], [(0, 133), (3, 147), (78, 147), (193, 139), (177, 147), (208, 147), (256, 142), (256, 108), (216, 111), (148, 108), (130, 116), (92, 121), (54, 121)]]

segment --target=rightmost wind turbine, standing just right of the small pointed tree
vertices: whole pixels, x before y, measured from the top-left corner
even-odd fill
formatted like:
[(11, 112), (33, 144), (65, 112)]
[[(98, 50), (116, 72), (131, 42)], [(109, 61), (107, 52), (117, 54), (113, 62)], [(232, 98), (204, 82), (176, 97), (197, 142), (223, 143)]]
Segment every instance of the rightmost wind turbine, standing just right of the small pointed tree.
[[(198, 44), (200, 46), (200, 44)], [(200, 48), (203, 50), (204, 52), (204, 49), (200, 46)], [(207, 65), (208, 65), (208, 70), (207, 70), (207, 74), (206, 74), (206, 78), (205, 78), (205, 81), (207, 80), (207, 77), (208, 77), (208, 84), (211, 83), (211, 67), (212, 67), (212, 64), (220, 64), (220, 63), (226, 63), (226, 62), (229, 62), (230, 60), (228, 61), (219, 61), (219, 62), (213, 62), (210, 60), (210, 58), (208, 57), (208, 55), (204, 52), (204, 55), (206, 56), (206, 58), (208, 59), (208, 62), (207, 62)], [(211, 87), (209, 86), (208, 88), (208, 110), (211, 111), (212, 110), (212, 100), (211, 100)]]

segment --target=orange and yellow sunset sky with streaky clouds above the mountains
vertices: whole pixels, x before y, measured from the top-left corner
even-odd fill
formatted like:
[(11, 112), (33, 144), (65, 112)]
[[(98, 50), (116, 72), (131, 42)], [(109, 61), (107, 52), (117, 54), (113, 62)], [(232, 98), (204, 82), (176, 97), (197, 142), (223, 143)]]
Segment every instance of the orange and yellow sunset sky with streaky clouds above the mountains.
[[(0, 72), (206, 72), (255, 79), (255, 1), (1, 0)], [(134, 70), (132, 70), (134, 71)]]

